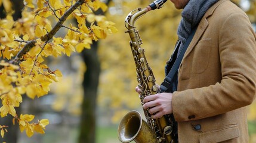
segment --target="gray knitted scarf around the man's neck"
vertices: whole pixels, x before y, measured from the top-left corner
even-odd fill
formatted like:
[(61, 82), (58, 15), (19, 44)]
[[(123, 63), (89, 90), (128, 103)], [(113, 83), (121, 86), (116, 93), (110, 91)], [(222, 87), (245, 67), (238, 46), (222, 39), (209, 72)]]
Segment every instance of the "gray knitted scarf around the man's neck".
[(183, 9), (178, 26), (178, 38), (181, 41), (181, 46), (186, 42), (193, 28), (198, 25), (206, 11), (214, 5), (218, 0), (190, 0)]

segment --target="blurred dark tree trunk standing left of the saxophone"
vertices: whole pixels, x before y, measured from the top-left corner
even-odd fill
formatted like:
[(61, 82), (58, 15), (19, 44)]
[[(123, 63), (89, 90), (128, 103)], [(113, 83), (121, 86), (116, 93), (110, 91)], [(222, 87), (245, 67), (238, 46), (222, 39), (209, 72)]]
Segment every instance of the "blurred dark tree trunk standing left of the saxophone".
[(98, 80), (100, 76), (100, 62), (97, 55), (98, 43), (94, 42), (91, 49), (82, 52), (82, 58), (87, 66), (84, 73), (84, 101), (82, 103), (82, 115), (79, 143), (95, 142), (95, 114)]

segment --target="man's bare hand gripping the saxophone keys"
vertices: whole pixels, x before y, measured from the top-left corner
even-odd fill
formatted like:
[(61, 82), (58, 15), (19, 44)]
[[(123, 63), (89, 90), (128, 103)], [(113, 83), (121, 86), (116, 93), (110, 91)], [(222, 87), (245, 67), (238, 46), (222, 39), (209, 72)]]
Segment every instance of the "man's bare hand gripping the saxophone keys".
[[(138, 86), (135, 88), (138, 94), (141, 93), (141, 89)], [(161, 93), (155, 95), (149, 95), (143, 99), (144, 105), (142, 106), (144, 110), (149, 108), (149, 113), (152, 114), (153, 119), (158, 119), (165, 114), (172, 113), (172, 94), (171, 93)]]

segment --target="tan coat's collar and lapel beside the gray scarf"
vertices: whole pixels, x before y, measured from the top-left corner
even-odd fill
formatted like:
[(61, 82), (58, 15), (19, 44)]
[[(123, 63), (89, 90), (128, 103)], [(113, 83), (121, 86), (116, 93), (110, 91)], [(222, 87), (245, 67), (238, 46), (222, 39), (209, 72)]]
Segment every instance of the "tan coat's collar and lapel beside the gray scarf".
[(208, 27), (209, 23), (208, 23), (207, 18), (210, 17), (214, 13), (214, 10), (218, 7), (218, 5), (220, 5), (224, 1), (229, 1), (229, 0), (220, 0), (220, 1), (216, 2), (216, 4), (212, 5), (212, 7), (209, 8), (208, 11), (206, 11), (205, 15), (203, 15), (202, 20), (200, 21), (200, 23), (198, 25), (198, 29), (196, 30), (195, 36), (193, 37), (189, 47), (187, 48), (187, 51), (185, 52), (184, 58), (186, 58), (187, 55), (190, 54), (192, 49), (195, 48), (196, 43), (198, 43), (199, 39), (203, 35), (203, 32), (205, 32), (206, 28)]

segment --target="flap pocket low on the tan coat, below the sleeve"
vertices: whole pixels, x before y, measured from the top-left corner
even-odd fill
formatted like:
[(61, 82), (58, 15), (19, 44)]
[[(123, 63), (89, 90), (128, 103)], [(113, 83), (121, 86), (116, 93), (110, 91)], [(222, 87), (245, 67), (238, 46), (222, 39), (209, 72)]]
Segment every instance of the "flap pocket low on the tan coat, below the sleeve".
[(229, 125), (223, 129), (212, 130), (211, 132), (199, 135), (200, 143), (216, 143), (239, 137), (238, 125)]

